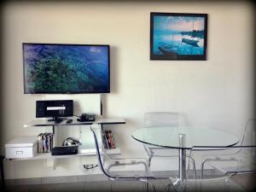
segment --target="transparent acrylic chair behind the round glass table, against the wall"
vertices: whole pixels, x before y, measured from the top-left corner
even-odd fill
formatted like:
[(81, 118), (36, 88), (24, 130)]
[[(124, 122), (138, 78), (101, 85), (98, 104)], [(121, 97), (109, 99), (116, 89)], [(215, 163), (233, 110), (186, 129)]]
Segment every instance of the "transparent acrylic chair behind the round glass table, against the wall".
[[(177, 127), (179, 125), (180, 114), (173, 112), (149, 112), (144, 113), (144, 126), (166, 126), (166, 127)], [(143, 144), (144, 148), (148, 154), (148, 166), (151, 166), (151, 160), (154, 157), (178, 157), (177, 149), (173, 148), (161, 148), (149, 144)], [(195, 172), (195, 160), (191, 160), (193, 164), (194, 177), (196, 177)]]

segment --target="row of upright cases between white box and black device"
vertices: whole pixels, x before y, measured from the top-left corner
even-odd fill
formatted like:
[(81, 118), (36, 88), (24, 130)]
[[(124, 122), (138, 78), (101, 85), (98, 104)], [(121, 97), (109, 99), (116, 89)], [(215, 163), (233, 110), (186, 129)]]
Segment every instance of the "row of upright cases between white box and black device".
[(54, 135), (44, 132), (38, 135), (38, 153), (49, 153), (53, 148)]

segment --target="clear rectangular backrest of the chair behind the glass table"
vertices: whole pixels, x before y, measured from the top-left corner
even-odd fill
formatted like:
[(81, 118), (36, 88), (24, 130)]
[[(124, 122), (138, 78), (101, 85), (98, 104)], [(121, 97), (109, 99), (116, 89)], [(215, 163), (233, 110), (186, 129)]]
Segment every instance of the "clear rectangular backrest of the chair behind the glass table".
[(151, 112), (144, 114), (145, 126), (177, 126), (178, 113), (172, 112)]

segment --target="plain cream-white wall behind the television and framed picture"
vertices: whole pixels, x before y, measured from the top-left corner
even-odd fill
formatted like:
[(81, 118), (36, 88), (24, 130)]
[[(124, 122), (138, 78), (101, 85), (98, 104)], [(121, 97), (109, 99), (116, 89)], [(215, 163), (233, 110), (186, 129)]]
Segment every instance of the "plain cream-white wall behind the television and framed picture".
[[(207, 61), (150, 61), (150, 12), (208, 14)], [(41, 131), (22, 127), (35, 118), (35, 101), (45, 98), (23, 94), (22, 42), (110, 44), (111, 93), (102, 95), (104, 115), (127, 119), (126, 125), (111, 125), (127, 156), (145, 154), (131, 132), (148, 111), (175, 111), (189, 125), (239, 133), (253, 115), (253, 16), (249, 3), (221, 1), (5, 3), (1, 151), (10, 138)], [(99, 95), (67, 97), (86, 111), (84, 101)], [(8, 162), (6, 176), (86, 174), (81, 160), (61, 161), (55, 171), (41, 160)]]

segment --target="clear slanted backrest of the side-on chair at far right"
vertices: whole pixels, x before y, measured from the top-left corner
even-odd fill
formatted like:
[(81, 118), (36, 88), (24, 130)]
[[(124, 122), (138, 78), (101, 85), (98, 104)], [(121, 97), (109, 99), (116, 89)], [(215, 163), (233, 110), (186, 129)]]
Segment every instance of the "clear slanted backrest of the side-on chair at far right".
[(243, 134), (241, 135), (241, 146), (256, 145), (256, 119), (248, 119)]

